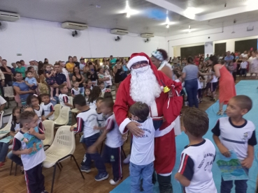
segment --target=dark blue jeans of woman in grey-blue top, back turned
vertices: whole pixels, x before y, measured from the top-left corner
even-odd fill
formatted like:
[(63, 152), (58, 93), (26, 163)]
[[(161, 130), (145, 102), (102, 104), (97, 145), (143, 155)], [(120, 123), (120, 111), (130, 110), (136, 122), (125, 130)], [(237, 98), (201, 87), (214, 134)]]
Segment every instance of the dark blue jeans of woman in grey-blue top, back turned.
[(185, 90), (187, 91), (187, 99), (189, 102), (189, 107), (195, 106), (198, 108), (197, 91), (198, 82), (197, 79), (185, 80)]

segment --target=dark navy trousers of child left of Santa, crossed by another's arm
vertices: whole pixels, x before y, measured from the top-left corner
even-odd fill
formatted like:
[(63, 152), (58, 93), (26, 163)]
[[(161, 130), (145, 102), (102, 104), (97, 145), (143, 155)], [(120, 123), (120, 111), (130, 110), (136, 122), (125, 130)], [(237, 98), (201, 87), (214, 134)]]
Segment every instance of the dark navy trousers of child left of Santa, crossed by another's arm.
[[(89, 148), (89, 146), (92, 146), (98, 138), (99, 138), (99, 132), (90, 137), (84, 138), (83, 143), (85, 143), (87, 148)], [(85, 156), (83, 157), (83, 165), (85, 167), (90, 168), (92, 160), (94, 160), (96, 169), (98, 169), (99, 173), (106, 172), (105, 164), (101, 159), (101, 155), (99, 155), (99, 153), (93, 153), (93, 154), (85, 153)]]

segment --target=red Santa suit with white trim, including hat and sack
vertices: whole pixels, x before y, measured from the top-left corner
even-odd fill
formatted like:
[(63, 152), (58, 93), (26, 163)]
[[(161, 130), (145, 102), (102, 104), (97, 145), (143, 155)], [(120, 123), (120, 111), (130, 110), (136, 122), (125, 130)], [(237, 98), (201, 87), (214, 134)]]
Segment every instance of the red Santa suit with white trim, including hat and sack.
[[(169, 98), (168, 93), (162, 92), (159, 98), (156, 98), (150, 105), (150, 116), (154, 123), (164, 120), (159, 128), (155, 128), (155, 171), (158, 174), (163, 174), (163, 176), (169, 176), (175, 165), (175, 133), (173, 128), (175, 127), (175, 119), (180, 115), (182, 108), (182, 97), (178, 95), (182, 86), (180, 82), (174, 82), (166, 77), (163, 72), (158, 71), (145, 53), (132, 54), (129, 63), (143, 61), (141, 60), (142, 56), (148, 59), (150, 68), (152, 68), (159, 85), (161, 87), (168, 86), (173, 94), (173, 97)], [(131, 122), (127, 114), (131, 105), (135, 103), (130, 96), (130, 83), (131, 75), (120, 84), (115, 99), (115, 118), (122, 133), (127, 132), (126, 125)]]

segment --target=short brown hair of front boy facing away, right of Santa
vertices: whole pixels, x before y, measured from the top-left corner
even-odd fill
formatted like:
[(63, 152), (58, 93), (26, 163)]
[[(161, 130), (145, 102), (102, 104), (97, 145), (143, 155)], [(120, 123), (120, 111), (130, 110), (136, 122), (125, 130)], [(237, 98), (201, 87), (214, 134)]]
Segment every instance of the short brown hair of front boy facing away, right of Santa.
[(205, 111), (196, 108), (185, 109), (182, 116), (185, 130), (194, 137), (203, 137), (209, 128), (209, 118)]

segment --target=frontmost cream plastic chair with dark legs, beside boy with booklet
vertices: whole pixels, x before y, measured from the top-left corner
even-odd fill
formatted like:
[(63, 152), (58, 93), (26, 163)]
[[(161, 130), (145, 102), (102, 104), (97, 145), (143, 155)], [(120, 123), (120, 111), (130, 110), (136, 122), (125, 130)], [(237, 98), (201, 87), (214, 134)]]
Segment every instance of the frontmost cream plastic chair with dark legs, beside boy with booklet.
[[(65, 125), (60, 127), (55, 134), (55, 139), (47, 150), (45, 150), (46, 159), (43, 161), (43, 167), (50, 168), (54, 167), (53, 178), (52, 178), (52, 186), (51, 192), (53, 192), (53, 187), (55, 183), (55, 171), (59, 165), (62, 164), (60, 162), (66, 160), (69, 157), (73, 157), (73, 160), (76, 162), (76, 158), (73, 156), (74, 150), (76, 150), (76, 141), (73, 136), (73, 132), (70, 131), (70, 126)], [(80, 167), (76, 162), (78, 170), (80, 171)], [(83, 179), (83, 173), (80, 171)]]

